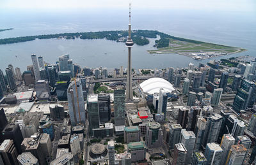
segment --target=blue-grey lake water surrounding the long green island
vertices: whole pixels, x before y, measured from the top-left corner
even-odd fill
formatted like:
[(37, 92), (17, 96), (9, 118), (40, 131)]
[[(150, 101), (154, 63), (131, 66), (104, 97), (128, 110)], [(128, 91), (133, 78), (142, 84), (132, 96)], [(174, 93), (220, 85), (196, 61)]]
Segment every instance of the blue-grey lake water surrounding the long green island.
[[(108, 11), (0, 11), (0, 38), (33, 36), (60, 32), (110, 31), (127, 29), (127, 12)], [(166, 32), (173, 36), (196, 39), (221, 45), (246, 48), (241, 54), (215, 59), (251, 55), (256, 57), (256, 14), (223, 11), (132, 11), (132, 29)], [(189, 62), (199, 62), (177, 54), (148, 54), (153, 50), (154, 39), (145, 46), (132, 48), (133, 68), (186, 67)], [(24, 43), (0, 45), (0, 69), (8, 64), (21, 71), (32, 64), (31, 54), (42, 55), (45, 62), (55, 63), (61, 54), (70, 54), (81, 67), (120, 68), (127, 66), (127, 48), (124, 43), (105, 39), (36, 39)]]

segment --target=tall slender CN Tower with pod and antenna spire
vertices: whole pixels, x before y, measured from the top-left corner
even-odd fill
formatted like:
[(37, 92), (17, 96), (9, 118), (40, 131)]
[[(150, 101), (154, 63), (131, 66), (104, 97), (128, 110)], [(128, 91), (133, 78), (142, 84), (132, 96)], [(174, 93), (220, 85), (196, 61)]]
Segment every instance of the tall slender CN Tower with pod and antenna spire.
[(126, 83), (126, 101), (133, 100), (132, 93), (132, 67), (131, 67), (131, 48), (133, 46), (133, 41), (131, 39), (131, 3), (129, 4), (129, 36), (125, 42), (126, 47), (128, 48), (128, 66), (127, 66), (127, 83)]

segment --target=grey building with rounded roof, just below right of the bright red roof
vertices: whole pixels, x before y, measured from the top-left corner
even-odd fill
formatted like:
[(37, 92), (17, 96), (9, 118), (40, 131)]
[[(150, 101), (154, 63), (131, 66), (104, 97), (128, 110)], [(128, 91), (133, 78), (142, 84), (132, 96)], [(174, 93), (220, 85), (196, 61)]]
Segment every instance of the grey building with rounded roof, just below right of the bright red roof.
[(161, 147), (163, 144), (163, 133), (161, 125), (158, 122), (148, 122), (146, 145), (148, 148)]

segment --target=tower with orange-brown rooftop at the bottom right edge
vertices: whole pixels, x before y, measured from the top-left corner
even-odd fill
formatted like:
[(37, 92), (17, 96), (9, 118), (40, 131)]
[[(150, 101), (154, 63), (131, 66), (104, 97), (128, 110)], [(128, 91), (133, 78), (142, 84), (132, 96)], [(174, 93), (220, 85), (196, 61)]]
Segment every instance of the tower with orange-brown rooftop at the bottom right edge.
[(228, 165), (243, 164), (247, 149), (243, 145), (232, 145), (228, 154)]

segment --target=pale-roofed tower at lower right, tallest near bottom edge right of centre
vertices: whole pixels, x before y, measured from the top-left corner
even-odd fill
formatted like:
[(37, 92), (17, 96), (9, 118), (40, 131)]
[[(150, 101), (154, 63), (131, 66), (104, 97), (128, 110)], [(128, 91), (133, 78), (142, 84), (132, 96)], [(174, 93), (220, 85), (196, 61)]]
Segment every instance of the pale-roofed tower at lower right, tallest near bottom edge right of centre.
[(184, 144), (186, 147), (187, 155), (186, 155), (186, 164), (189, 164), (192, 159), (192, 154), (195, 146), (196, 136), (192, 131), (186, 131), (186, 129), (181, 130), (181, 138), (180, 143)]

